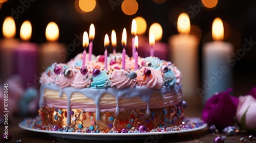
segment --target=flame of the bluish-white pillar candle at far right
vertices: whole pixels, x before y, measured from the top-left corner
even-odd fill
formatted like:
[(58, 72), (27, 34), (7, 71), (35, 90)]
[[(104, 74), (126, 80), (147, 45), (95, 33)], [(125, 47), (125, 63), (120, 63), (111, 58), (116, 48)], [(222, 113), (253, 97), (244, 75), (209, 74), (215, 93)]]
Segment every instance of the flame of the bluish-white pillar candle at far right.
[(217, 17), (212, 23), (212, 39), (214, 40), (223, 40), (224, 38), (224, 27), (222, 20)]

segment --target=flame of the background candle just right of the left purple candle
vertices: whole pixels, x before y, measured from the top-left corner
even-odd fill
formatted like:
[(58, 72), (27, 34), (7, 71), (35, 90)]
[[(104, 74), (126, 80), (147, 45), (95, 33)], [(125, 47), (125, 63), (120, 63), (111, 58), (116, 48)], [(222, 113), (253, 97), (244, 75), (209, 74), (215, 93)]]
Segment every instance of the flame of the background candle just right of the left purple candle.
[(57, 41), (59, 38), (59, 28), (55, 22), (48, 23), (46, 27), (47, 41)]

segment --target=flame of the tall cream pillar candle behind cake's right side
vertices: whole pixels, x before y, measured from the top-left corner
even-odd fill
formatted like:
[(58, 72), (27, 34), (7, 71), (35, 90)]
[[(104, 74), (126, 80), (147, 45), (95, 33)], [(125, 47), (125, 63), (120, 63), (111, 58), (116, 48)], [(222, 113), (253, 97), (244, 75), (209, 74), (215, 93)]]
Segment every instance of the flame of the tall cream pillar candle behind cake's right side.
[(187, 34), (190, 32), (190, 20), (186, 13), (181, 13), (178, 17), (177, 29), (179, 33)]

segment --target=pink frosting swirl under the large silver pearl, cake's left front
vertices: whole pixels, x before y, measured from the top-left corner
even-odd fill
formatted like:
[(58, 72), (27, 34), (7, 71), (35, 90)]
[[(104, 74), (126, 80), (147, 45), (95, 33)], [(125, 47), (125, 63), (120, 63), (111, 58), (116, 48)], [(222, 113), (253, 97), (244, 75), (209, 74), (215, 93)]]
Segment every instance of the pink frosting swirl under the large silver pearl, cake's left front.
[(57, 76), (55, 83), (60, 87), (60, 89), (71, 85), (76, 76), (76, 72), (73, 69), (72, 72), (73, 76), (71, 78), (66, 78), (62, 72)]

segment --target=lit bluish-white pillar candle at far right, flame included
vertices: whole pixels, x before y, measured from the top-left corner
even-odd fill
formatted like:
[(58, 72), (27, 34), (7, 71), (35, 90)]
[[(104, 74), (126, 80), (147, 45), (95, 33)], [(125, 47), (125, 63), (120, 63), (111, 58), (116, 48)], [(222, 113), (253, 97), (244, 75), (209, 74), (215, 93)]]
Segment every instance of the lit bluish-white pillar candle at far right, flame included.
[(204, 103), (216, 92), (232, 87), (232, 67), (227, 58), (233, 52), (231, 43), (222, 41), (223, 23), (216, 18), (212, 23), (212, 39), (203, 45), (203, 81), (201, 93)]

